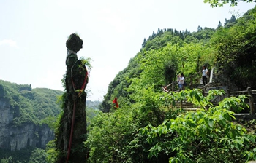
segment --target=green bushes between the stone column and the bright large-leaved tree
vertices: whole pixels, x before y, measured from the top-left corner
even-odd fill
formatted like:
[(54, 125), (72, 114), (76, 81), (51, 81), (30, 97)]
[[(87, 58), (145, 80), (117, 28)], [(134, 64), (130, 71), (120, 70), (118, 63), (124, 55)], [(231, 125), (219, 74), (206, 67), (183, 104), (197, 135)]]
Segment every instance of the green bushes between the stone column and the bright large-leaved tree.
[(148, 143), (146, 137), (138, 135), (138, 129), (147, 124), (161, 124), (165, 114), (153, 88), (144, 88), (135, 96), (138, 103), (108, 114), (99, 113), (92, 119), (86, 141), (91, 148), (90, 162), (161, 162), (148, 159)]

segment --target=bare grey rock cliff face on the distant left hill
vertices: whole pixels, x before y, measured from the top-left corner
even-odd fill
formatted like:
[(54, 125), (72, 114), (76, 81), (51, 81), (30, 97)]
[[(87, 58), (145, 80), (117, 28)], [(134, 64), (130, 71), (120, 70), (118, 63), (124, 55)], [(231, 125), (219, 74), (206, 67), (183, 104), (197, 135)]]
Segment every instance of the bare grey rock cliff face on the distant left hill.
[(19, 116), (20, 107), (11, 105), (10, 100), (0, 97), (0, 148), (20, 150), (27, 146), (45, 148), (54, 133), (48, 125), (26, 122), (15, 126), (12, 120)]

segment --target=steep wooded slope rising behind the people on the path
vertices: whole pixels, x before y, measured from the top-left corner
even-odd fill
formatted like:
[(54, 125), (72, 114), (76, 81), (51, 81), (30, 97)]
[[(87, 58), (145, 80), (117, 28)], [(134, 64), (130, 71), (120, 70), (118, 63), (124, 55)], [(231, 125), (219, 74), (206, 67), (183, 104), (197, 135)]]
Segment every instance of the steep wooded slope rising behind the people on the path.
[(162, 91), (162, 86), (176, 81), (178, 73), (184, 73), (187, 88), (200, 87), (203, 65), (209, 73), (213, 70), (214, 84), (230, 90), (256, 88), (255, 33), (255, 8), (238, 19), (232, 15), (216, 29), (200, 25), (193, 32), (158, 29), (144, 39), (140, 52), (110, 82), (99, 108), (110, 111), (115, 97), (120, 107), (129, 106), (135, 103), (135, 92), (145, 87)]

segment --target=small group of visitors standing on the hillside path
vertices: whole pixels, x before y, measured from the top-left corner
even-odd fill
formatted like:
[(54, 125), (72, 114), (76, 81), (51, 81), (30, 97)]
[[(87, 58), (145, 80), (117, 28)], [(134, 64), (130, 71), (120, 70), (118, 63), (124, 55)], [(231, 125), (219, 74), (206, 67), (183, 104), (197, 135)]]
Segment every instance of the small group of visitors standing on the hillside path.
[[(207, 84), (207, 73), (208, 73), (208, 70), (207, 70), (206, 66), (203, 65), (203, 68), (202, 68), (202, 80), (203, 80), (203, 85), (204, 86)], [(185, 87), (187, 86), (187, 84), (185, 82), (184, 73), (181, 73), (181, 74), (177, 75), (177, 82), (178, 82), (178, 90), (185, 90)], [(164, 92), (169, 92), (169, 90), (167, 89), (167, 86), (163, 86), (162, 90)]]

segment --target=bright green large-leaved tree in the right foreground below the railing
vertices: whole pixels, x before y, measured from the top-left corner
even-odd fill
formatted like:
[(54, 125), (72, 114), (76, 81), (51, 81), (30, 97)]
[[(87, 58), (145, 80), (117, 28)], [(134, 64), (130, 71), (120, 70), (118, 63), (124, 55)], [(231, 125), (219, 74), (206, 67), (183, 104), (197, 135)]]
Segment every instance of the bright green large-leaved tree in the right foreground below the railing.
[[(219, 106), (212, 105), (214, 95), (222, 93), (213, 90), (203, 97), (197, 90), (186, 90), (172, 94), (171, 104), (185, 97), (202, 109), (166, 119), (158, 127), (149, 124), (143, 128), (140, 133), (147, 135), (148, 143), (152, 144), (148, 156), (158, 157), (164, 152), (170, 162), (246, 162), (256, 159), (256, 136), (234, 124), (232, 119), (235, 118), (230, 111), (231, 107), (241, 110), (246, 97), (226, 98)], [(159, 140), (162, 135), (172, 138)]]

